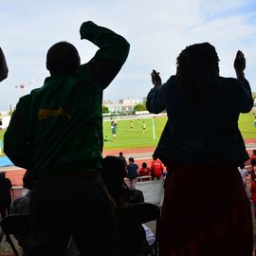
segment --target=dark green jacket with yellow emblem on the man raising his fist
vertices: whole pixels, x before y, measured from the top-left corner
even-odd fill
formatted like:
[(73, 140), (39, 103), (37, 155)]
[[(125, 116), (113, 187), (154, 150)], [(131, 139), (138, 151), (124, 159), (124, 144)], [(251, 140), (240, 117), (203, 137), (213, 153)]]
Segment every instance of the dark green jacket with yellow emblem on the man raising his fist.
[(51, 76), (17, 103), (4, 136), (4, 152), (35, 179), (101, 168), (102, 91), (128, 53), (127, 41), (92, 22), (81, 38), (100, 49), (72, 76)]

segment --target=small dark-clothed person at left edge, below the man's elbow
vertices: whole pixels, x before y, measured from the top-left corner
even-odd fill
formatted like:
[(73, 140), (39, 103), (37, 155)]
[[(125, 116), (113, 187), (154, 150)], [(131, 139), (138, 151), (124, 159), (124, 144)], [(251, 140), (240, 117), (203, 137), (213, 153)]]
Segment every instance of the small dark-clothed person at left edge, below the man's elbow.
[(5, 172), (0, 173), (0, 212), (1, 217), (4, 218), (9, 215), (11, 204), (11, 189), (12, 185), (9, 178), (6, 177)]

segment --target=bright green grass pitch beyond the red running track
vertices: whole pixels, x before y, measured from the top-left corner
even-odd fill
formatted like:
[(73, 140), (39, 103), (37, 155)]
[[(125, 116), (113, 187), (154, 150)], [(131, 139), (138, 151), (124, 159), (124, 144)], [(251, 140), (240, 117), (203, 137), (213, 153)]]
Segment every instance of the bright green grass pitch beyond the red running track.
[[(142, 120), (146, 123), (146, 130), (143, 134)], [(153, 119), (133, 119), (134, 129), (130, 129), (130, 120), (118, 120), (117, 137), (112, 140), (110, 121), (103, 122), (104, 151), (135, 148), (155, 147), (166, 123), (166, 118), (155, 118), (155, 139), (153, 136)], [(254, 116), (252, 113), (242, 114), (239, 119), (239, 128), (243, 137), (256, 138), (256, 128), (253, 126)], [(3, 139), (5, 130), (0, 130), (0, 139)]]

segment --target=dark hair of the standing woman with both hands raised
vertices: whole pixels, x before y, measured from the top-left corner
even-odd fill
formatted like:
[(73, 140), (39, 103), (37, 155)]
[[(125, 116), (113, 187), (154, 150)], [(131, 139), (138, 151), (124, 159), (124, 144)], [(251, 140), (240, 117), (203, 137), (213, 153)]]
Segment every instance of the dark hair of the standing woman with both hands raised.
[(186, 47), (176, 59), (176, 79), (191, 97), (200, 99), (219, 76), (219, 58), (209, 43)]

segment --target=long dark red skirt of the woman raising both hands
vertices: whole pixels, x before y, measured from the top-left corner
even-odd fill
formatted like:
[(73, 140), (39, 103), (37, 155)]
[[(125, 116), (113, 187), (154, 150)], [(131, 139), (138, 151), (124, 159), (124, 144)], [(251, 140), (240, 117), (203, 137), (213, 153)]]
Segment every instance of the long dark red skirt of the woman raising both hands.
[(251, 256), (250, 203), (236, 166), (169, 165), (160, 256)]

